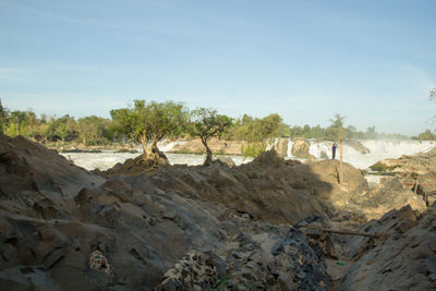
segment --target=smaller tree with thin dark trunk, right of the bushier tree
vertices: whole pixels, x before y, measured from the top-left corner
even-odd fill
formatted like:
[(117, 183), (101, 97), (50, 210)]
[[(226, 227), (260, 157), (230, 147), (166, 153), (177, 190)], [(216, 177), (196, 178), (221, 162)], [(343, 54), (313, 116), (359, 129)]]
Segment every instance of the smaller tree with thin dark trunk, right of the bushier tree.
[(204, 166), (211, 163), (211, 150), (207, 141), (213, 136), (221, 136), (232, 124), (232, 119), (218, 114), (215, 109), (197, 108), (191, 112), (189, 132), (192, 136), (198, 136), (206, 148), (206, 160)]

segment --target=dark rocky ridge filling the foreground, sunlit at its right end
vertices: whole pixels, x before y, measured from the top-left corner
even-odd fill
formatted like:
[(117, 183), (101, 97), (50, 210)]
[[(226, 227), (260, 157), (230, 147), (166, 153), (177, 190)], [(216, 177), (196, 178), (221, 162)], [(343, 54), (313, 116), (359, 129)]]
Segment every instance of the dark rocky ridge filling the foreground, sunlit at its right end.
[[(341, 286), (365, 287), (360, 262), (378, 246), (319, 230), (343, 220), (366, 222), (362, 197), (368, 187), (353, 167), (343, 165), (341, 184), (338, 161), (284, 161), (275, 150), (239, 167), (147, 167), (134, 163), (102, 177), (22, 137), (0, 135), (0, 289), (327, 290), (325, 257), (346, 255), (359, 260)], [(361, 231), (385, 226), (402, 235), (416, 221), (434, 231), (434, 221), (421, 225), (412, 208), (389, 219)], [(389, 240), (382, 242), (392, 246)], [(433, 252), (433, 245), (419, 245), (431, 257), (424, 246)], [(378, 258), (363, 262), (372, 259)], [(413, 286), (416, 274), (432, 280), (431, 263), (416, 265), (417, 272), (402, 268), (409, 274), (402, 283)], [(374, 289), (385, 287), (366, 280)], [(426, 288), (424, 282), (419, 286)]]

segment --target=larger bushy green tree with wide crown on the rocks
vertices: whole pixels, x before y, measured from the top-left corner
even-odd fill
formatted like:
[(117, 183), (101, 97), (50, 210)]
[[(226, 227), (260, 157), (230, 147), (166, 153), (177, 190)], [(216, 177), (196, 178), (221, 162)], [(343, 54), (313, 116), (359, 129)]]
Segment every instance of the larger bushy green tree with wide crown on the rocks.
[(133, 108), (114, 109), (110, 116), (111, 130), (140, 142), (146, 159), (156, 157), (160, 140), (180, 134), (187, 122), (184, 106), (173, 101), (146, 105), (145, 100), (134, 100)]

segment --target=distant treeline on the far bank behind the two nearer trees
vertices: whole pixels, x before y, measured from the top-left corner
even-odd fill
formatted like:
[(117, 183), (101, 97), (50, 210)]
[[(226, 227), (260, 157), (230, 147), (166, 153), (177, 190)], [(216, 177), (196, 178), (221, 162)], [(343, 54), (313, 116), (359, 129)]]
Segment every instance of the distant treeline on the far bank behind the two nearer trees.
[[(160, 109), (158, 107), (159, 105), (161, 106)], [(165, 106), (168, 107), (168, 105), (172, 105), (172, 107), (169, 109), (167, 108), (167, 111), (162, 111), (162, 108), (165, 108)], [(164, 137), (187, 137), (190, 131), (186, 130), (182, 123), (190, 122), (190, 114), (195, 112), (195, 110), (191, 111), (184, 106), (174, 104), (172, 101), (162, 104), (152, 101), (148, 105), (143, 101), (141, 106), (143, 106), (144, 111), (142, 121), (135, 120), (135, 122), (149, 122), (150, 124), (159, 124), (159, 122), (161, 123), (161, 121), (168, 120), (171, 118), (171, 116), (174, 117), (175, 111), (178, 111), (178, 114), (181, 113), (185, 117), (178, 117), (179, 120), (175, 122), (175, 125), (180, 125), (179, 131), (167, 131), (167, 133), (164, 134), (168, 136), (159, 136), (159, 140)], [(125, 142), (129, 140), (136, 140), (136, 142), (140, 142), (138, 138), (132, 138), (135, 130), (138, 130), (138, 125), (136, 125), (136, 129), (126, 129), (132, 126), (134, 114), (140, 114), (138, 112), (141, 112), (141, 110), (136, 109), (137, 108), (132, 107), (111, 110), (111, 119), (96, 116), (75, 119), (69, 114), (59, 118), (48, 114), (41, 114), (40, 117), (37, 117), (32, 110), (11, 111), (2, 107), (0, 101), (0, 130), (9, 136), (23, 135), (43, 143), (75, 142), (88, 146), (108, 145), (113, 142)], [(161, 110), (161, 112), (155, 112), (153, 110)], [(216, 110), (209, 109), (208, 113), (211, 112), (216, 114)], [(122, 116), (123, 113), (130, 113), (131, 116)], [(219, 117), (226, 116), (221, 114)], [(377, 133), (375, 126), (367, 128), (364, 132), (358, 131), (353, 125), (346, 126), (343, 122), (344, 117), (338, 113), (334, 116), (334, 118), (330, 120), (330, 124), (327, 128), (322, 128), (320, 125), (310, 126), (307, 124), (303, 126), (290, 126), (284, 124), (281, 117), (277, 113), (271, 113), (265, 118), (253, 118), (247, 114), (244, 114), (239, 119), (231, 119), (229, 117), (226, 118), (226, 129), (217, 132), (215, 135), (225, 140), (233, 141), (259, 142), (271, 137), (302, 137), (331, 141), (340, 137), (349, 140), (411, 138), (409, 136), (395, 133)], [(150, 131), (153, 131), (153, 128), (147, 129), (147, 134), (149, 134)], [(435, 140), (435, 134), (431, 130), (426, 130), (416, 137), (412, 138)]]

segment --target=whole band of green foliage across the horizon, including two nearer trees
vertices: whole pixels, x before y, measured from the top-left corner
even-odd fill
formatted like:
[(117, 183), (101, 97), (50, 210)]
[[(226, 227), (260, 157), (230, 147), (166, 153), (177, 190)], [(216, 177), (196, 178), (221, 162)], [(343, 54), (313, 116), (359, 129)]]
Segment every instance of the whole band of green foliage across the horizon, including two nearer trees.
[[(435, 94), (436, 88), (431, 92), (432, 100), (435, 100)], [(289, 126), (277, 113), (264, 118), (244, 114), (233, 123), (231, 118), (218, 114), (211, 109), (199, 108), (189, 113), (182, 104), (173, 101), (147, 104), (145, 100), (134, 100), (133, 106), (113, 109), (110, 116), (111, 120), (95, 116), (80, 118), (77, 121), (70, 116), (56, 118), (41, 114), (37, 118), (32, 110), (10, 111), (0, 100), (0, 132), (10, 136), (21, 134), (45, 143), (77, 141), (85, 145), (99, 145), (114, 140), (123, 142), (130, 140), (141, 142), (148, 151), (150, 148), (152, 150), (156, 148), (157, 142), (164, 137), (177, 138), (190, 134), (202, 137), (207, 144), (209, 137), (218, 136), (246, 141), (249, 144), (243, 148), (246, 157), (259, 155), (266, 148), (265, 141), (278, 136), (315, 140), (408, 138), (400, 134), (377, 133), (375, 126), (370, 126), (365, 132), (358, 131), (352, 125), (346, 128), (344, 117), (339, 113), (330, 119), (327, 128), (308, 124)], [(434, 133), (426, 130), (416, 138), (435, 140), (435, 137)]]

